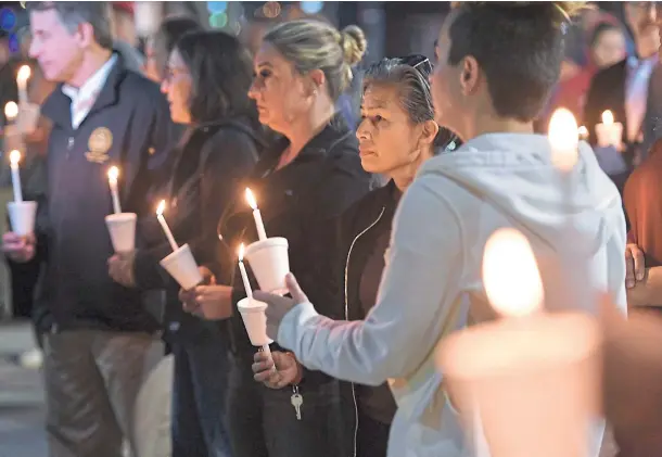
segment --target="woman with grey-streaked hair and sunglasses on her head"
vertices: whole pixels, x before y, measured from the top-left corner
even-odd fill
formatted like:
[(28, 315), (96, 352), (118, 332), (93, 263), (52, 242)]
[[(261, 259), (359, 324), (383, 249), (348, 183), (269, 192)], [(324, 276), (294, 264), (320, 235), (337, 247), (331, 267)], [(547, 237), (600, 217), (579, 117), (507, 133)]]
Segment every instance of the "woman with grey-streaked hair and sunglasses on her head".
[[(430, 94), (432, 65), (422, 55), (384, 59), (370, 66), (362, 81), (361, 122), (356, 131), (366, 172), (390, 178), (341, 216), (342, 268), (338, 271), (345, 293), (345, 319), (365, 319), (377, 302), (391, 239), (391, 225), (403, 192), (421, 164), (443, 152), (451, 140), (434, 122)], [(282, 352), (272, 352), (277, 366)], [(255, 354), (255, 379), (266, 385), (292, 382), (288, 372), (273, 371), (273, 361)], [(396, 405), (386, 383), (353, 384), (347, 403), (355, 423), (358, 457), (385, 457), (389, 430)]]

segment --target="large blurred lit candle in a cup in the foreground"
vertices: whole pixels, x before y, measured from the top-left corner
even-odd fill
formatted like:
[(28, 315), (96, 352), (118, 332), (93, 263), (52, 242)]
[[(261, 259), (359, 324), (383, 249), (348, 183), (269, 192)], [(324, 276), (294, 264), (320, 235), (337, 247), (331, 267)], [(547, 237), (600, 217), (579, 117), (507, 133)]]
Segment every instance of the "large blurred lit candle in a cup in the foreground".
[(491, 457), (585, 457), (601, 441), (591, 429), (599, 326), (587, 314), (544, 310), (535, 256), (515, 229), (488, 239), (482, 274), (500, 318), (450, 334), (436, 353), (455, 406), (473, 422), (475, 448)]

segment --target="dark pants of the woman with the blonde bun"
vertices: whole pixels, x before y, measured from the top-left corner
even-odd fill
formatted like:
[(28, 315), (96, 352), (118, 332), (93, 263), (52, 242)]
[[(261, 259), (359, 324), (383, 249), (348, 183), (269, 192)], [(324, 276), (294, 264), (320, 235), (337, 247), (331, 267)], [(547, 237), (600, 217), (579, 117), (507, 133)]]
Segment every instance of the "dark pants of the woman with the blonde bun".
[(346, 457), (353, 455), (354, 411), (344, 405), (339, 381), (314, 390), (301, 386), (302, 419), (292, 407), (292, 389), (257, 383), (252, 359), (231, 357), (228, 415), (234, 457)]

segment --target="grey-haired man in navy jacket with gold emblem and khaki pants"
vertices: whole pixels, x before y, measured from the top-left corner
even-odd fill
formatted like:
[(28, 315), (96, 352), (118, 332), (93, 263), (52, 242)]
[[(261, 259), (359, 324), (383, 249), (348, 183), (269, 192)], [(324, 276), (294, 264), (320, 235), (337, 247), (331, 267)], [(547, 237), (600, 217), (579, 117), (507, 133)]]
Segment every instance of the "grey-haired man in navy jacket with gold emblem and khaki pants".
[[(53, 128), (47, 153), (48, 202), (34, 236), (4, 237), (15, 261), (44, 259), (37, 302), (42, 320), (47, 429), (51, 457), (122, 455), (136, 448), (133, 404), (162, 355), (158, 323), (137, 292), (107, 276), (113, 254), (106, 172), (119, 166), (125, 212), (152, 212), (145, 201), (165, 163), (170, 117), (158, 87), (127, 69), (112, 50), (102, 2), (29, 2), (30, 56), (60, 86), (42, 106)], [(141, 245), (140, 233), (137, 245)]]

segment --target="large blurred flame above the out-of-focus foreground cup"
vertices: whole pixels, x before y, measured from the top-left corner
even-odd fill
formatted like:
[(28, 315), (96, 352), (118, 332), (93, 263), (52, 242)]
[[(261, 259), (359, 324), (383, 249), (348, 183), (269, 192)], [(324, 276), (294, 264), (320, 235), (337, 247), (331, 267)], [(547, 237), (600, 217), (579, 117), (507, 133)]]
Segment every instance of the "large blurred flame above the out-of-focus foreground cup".
[(526, 316), (543, 306), (543, 280), (522, 232), (504, 228), (485, 244), (483, 284), (492, 306), (504, 316)]

